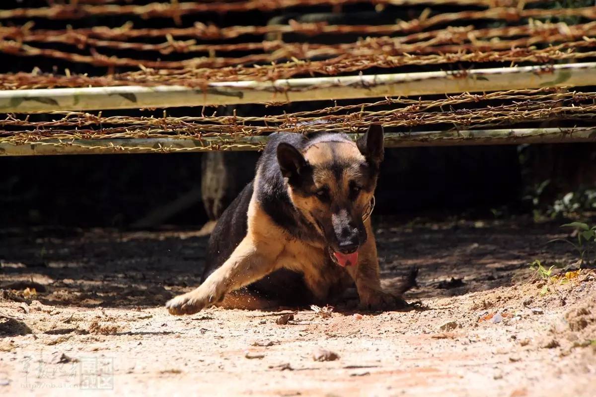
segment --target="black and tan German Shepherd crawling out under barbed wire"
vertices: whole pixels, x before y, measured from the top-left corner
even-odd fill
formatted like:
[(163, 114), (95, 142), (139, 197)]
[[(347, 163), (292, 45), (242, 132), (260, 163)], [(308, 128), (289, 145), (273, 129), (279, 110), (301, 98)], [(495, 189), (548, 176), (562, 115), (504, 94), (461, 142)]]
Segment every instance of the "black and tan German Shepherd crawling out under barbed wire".
[(371, 227), (382, 160), (381, 126), (357, 142), (342, 133), (271, 135), (254, 180), (213, 230), (203, 283), (170, 299), (169, 312), (323, 305), (353, 285), (365, 308), (403, 305), (415, 270), (381, 289)]

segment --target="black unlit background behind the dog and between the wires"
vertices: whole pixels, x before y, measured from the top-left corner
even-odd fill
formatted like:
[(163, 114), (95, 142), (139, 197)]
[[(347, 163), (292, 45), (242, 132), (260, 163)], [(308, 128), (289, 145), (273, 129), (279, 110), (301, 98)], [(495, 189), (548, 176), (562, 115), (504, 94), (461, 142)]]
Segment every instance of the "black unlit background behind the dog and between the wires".
[[(59, 1), (55, 1), (59, 4)], [(134, 1), (146, 4), (147, 1)], [(553, 6), (557, 2), (552, 2)], [(586, 3), (586, 4), (583, 4)], [(576, 1), (575, 5), (588, 5)], [(41, 7), (46, 1), (5, 1), (2, 8)], [(569, 5), (569, 4), (565, 4)], [(544, 5), (541, 5), (544, 7)], [(457, 7), (433, 7), (433, 11), (457, 11)], [(387, 7), (382, 12), (373, 5), (356, 4), (331, 10), (330, 7), (300, 7), (275, 12), (251, 11), (237, 14), (198, 14), (182, 17), (182, 26), (200, 21), (218, 26), (241, 24), (264, 25), (275, 20), (285, 23), (289, 19), (299, 21), (325, 20), (342, 24), (392, 23), (396, 19), (408, 20), (421, 14), (420, 7)], [(334, 11), (334, 12), (332, 12)], [(64, 29), (73, 27), (122, 26), (131, 20), (136, 28), (174, 26), (168, 18), (97, 17), (81, 20), (35, 20), (36, 28)], [(4, 21), (20, 25), (26, 21)], [(569, 21), (570, 23), (577, 21)], [(460, 21), (461, 25), (470, 21)], [(498, 26), (499, 21), (475, 21), (478, 28)], [(520, 23), (524, 23), (520, 21)], [(441, 26), (433, 27), (439, 29)], [(355, 40), (356, 37), (300, 37), (284, 36), (287, 41), (330, 42)], [(228, 42), (242, 40), (260, 41), (265, 37), (244, 36)], [(162, 42), (156, 39), (155, 42)], [(35, 43), (36, 46), (48, 46)], [(73, 49), (72, 46), (52, 44), (51, 48), (88, 54), (89, 49)], [(156, 60), (175, 60), (188, 54), (163, 55), (150, 52), (123, 54), (122, 51), (100, 49), (104, 55), (120, 55)], [(226, 53), (241, 56), (246, 53)], [(197, 55), (198, 56), (198, 55)], [(34, 67), (44, 72), (103, 75), (106, 68), (86, 64), (72, 64), (38, 57), (14, 57), (0, 55), (0, 73), (31, 71)], [(461, 64), (457, 67), (495, 67), (501, 64)], [(443, 65), (449, 68), (450, 65)], [(402, 73), (406, 71), (436, 70), (436, 67), (401, 67), (395, 70), (368, 70), (366, 73)], [(114, 70), (114, 72), (126, 71)], [(594, 87), (582, 87), (593, 90)], [(440, 98), (440, 96), (437, 96)], [(340, 102), (347, 103), (348, 101)], [(328, 106), (328, 102), (297, 103), (278, 107), (277, 112), (313, 110)], [(466, 107), (473, 105), (467, 104)], [(220, 114), (231, 108), (219, 109)], [(157, 111), (159, 113), (159, 111)], [(198, 115), (200, 108), (178, 108), (171, 115)], [(258, 105), (237, 107), (238, 115), (263, 114)], [(266, 110), (272, 114), (272, 109)], [(104, 115), (141, 114), (140, 111), (112, 111)], [(147, 115), (145, 111), (142, 114)], [(516, 124), (549, 127), (561, 124)], [(432, 128), (431, 128), (432, 127)], [(427, 126), (426, 130), (448, 129), (452, 126)], [(495, 217), (508, 214), (530, 213), (534, 210), (548, 212), (557, 198), (568, 192), (583, 196), (595, 183), (594, 160), (596, 149), (592, 144), (535, 146), (476, 146), (452, 148), (403, 148), (388, 149), (383, 164), (377, 193), (375, 214), (433, 215), (443, 217), (464, 214), (470, 217)], [(0, 226), (102, 226), (127, 229), (145, 218), (152, 211), (168, 208), (172, 203), (190, 200), (181, 205), (171, 217), (160, 223), (176, 226), (200, 226), (221, 211), (213, 210), (213, 202), (221, 207), (234, 198), (238, 189), (252, 177), (257, 154), (241, 152), (234, 154), (132, 154), (132, 155), (80, 155), (46, 157), (1, 157), (0, 168)], [(214, 164), (225, 164), (226, 171), (219, 176)], [(215, 174), (214, 174), (215, 173)], [(213, 193), (213, 182), (201, 186), (201, 180), (221, 179), (223, 192)], [(215, 177), (213, 177), (215, 175)], [(545, 184), (545, 181), (548, 181)], [(541, 189), (540, 185), (545, 186)], [(203, 189), (201, 195), (197, 189)], [(209, 190), (211, 189), (211, 190)], [(209, 190), (209, 191), (207, 191)], [(213, 195), (218, 195), (214, 197)], [(202, 200), (201, 200), (202, 196)], [(196, 198), (194, 198), (196, 197)], [(533, 199), (533, 200), (532, 200)], [(188, 201), (187, 200), (187, 201)], [(206, 204), (206, 205), (205, 205)], [(587, 203), (586, 205), (591, 205)], [(552, 211), (551, 211), (552, 212)], [(554, 214), (557, 215), (557, 214)]]

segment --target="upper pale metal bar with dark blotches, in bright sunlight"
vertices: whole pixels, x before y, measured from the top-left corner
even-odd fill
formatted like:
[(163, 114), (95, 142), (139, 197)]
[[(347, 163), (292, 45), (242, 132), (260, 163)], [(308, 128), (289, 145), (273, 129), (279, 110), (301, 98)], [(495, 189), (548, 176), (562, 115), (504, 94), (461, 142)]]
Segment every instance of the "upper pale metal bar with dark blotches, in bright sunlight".
[(0, 91), (0, 112), (48, 112), (486, 92), (596, 85), (596, 62), (468, 71), (219, 82), (206, 87), (116, 86)]

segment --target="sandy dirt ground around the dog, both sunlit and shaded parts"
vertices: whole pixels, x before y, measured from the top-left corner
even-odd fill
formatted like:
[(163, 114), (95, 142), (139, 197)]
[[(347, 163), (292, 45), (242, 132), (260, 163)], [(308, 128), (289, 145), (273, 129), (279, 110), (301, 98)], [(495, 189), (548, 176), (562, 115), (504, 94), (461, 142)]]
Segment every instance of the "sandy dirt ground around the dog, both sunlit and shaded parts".
[(528, 267), (576, 259), (555, 237), (527, 218), (384, 220), (384, 282), (420, 268), (412, 308), (280, 325), (290, 310), (167, 314), (198, 283), (196, 231), (2, 230), (0, 395), (595, 396), (596, 273)]

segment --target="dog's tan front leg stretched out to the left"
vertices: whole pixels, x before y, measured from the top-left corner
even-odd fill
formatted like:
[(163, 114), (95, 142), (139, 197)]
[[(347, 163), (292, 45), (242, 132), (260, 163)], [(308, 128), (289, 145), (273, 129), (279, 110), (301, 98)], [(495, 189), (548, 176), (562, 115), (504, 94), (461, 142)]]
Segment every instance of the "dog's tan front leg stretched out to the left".
[(166, 303), (171, 314), (194, 314), (215, 305), (233, 290), (262, 279), (276, 268), (276, 259), (283, 246), (277, 241), (244, 237), (232, 255), (198, 288), (170, 299)]

